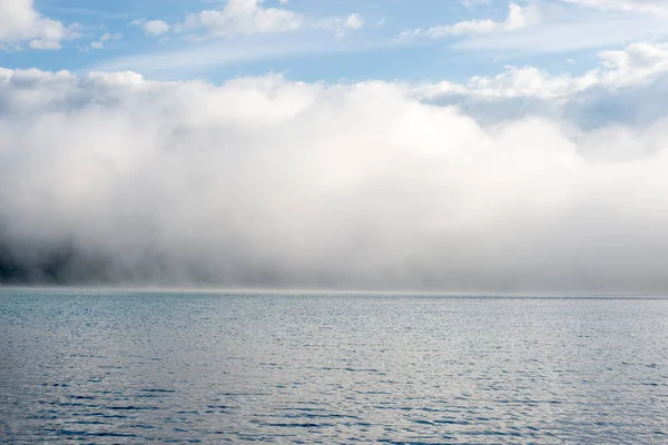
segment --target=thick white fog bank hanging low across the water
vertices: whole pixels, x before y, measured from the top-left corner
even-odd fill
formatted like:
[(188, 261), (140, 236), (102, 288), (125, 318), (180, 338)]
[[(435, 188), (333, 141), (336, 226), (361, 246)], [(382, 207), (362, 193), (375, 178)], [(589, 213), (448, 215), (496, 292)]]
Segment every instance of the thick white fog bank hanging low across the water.
[[(633, 51), (597, 76), (648, 63)], [(666, 111), (606, 113), (656, 103), (651, 72), (477, 109), (471, 86), (1, 69), (0, 279), (664, 293)]]

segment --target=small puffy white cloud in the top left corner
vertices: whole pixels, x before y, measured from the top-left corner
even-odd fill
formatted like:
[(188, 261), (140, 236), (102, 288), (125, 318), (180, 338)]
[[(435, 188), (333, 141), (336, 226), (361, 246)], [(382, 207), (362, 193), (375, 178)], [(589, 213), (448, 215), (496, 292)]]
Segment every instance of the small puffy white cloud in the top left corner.
[(62, 40), (79, 37), (77, 29), (43, 17), (32, 0), (0, 0), (0, 49), (21, 42), (32, 49), (60, 49)]

